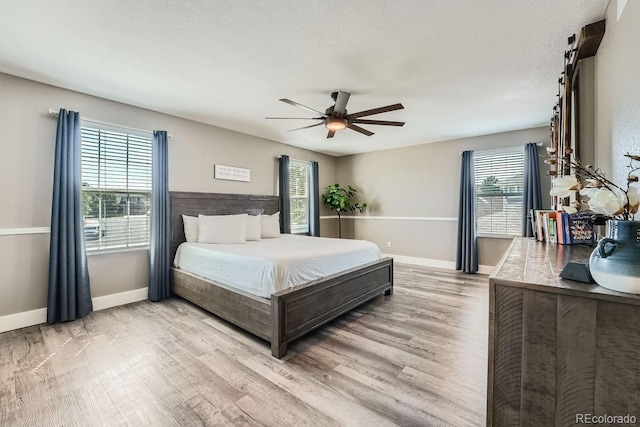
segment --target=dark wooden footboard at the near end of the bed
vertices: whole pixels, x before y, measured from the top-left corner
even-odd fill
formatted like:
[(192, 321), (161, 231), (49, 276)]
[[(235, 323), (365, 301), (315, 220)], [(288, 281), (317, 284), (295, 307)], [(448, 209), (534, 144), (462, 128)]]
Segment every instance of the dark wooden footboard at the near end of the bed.
[(289, 342), (381, 293), (393, 294), (393, 258), (273, 294), (271, 354), (284, 357)]

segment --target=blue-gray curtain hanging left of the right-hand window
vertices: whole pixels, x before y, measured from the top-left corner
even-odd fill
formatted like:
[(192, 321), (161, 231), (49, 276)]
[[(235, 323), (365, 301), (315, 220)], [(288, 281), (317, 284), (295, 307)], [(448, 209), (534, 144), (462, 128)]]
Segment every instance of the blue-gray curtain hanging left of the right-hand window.
[(462, 270), (465, 273), (478, 271), (476, 185), (473, 170), (473, 151), (462, 153), (456, 270)]

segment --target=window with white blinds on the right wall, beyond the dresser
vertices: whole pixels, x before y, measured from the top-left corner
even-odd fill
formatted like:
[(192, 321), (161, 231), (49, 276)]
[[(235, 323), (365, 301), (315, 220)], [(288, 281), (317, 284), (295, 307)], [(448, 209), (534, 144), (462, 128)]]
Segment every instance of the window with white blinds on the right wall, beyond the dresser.
[(522, 233), (524, 149), (474, 153), (478, 235)]

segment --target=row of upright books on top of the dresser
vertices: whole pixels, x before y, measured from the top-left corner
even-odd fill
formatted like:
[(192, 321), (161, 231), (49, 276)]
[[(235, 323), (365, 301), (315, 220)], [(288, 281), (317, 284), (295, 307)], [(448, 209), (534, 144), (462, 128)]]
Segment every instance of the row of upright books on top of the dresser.
[(596, 243), (596, 232), (590, 215), (539, 209), (532, 210), (530, 218), (535, 237), (540, 242), (560, 245)]

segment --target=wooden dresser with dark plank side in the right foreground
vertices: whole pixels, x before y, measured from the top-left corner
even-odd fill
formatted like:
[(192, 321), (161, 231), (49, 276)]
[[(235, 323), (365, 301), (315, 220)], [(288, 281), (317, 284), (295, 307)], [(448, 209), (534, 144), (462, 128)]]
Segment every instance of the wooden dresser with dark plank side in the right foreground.
[(591, 251), (516, 238), (491, 275), (487, 425), (640, 422), (640, 297), (559, 277)]

